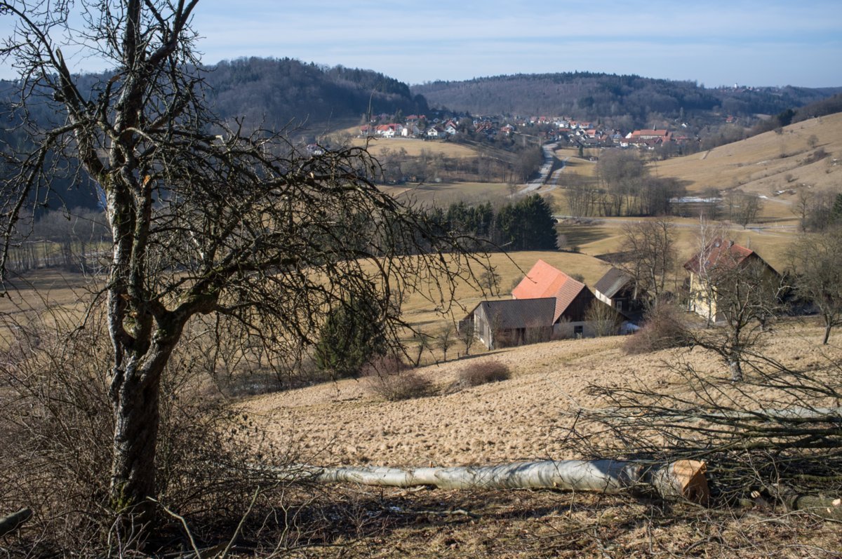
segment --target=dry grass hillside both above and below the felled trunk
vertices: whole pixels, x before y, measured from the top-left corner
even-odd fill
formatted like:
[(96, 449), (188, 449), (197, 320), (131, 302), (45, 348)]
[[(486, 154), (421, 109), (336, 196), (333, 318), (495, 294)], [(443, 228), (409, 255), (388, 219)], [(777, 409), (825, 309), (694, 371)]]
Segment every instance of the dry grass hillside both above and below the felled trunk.
[[(839, 343), (837, 333), (834, 342)], [(842, 358), (819, 346), (821, 328), (791, 322), (765, 351), (801, 368)], [(685, 390), (670, 364), (691, 363), (727, 389), (727, 370), (701, 350), (629, 356), (626, 338), (541, 343), (450, 359), (417, 370), (438, 393), (385, 402), (362, 380), (244, 402), (274, 440), (319, 464), (453, 466), (573, 457), (564, 445), (578, 405), (603, 404), (591, 383)], [(452, 392), (467, 365), (509, 366), (507, 381)], [(646, 499), (552, 491), (459, 492), (338, 488), (360, 525), (338, 546), (301, 556), (343, 557), (838, 557), (842, 528), (807, 514), (664, 505)]]

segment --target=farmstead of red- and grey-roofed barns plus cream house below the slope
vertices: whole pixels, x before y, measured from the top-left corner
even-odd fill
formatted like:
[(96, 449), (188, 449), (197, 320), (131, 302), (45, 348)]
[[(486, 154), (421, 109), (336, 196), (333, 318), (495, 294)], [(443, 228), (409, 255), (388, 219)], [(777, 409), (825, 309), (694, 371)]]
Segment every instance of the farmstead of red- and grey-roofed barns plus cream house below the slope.
[[(777, 275), (750, 248), (722, 239), (709, 243), (684, 265), (689, 274), (687, 310), (714, 321), (722, 319), (716, 289), (706, 282), (717, 269), (749, 264), (759, 264), (769, 274)], [(612, 331), (603, 330), (603, 334), (632, 333), (637, 330), (644, 302), (637, 298), (632, 276), (620, 269), (609, 269), (591, 291), (584, 283), (538, 260), (514, 287), (511, 299), (480, 302), (461, 320), (459, 328), (472, 329), (474, 337), (487, 349), (589, 338), (604, 329), (606, 323)], [(604, 307), (594, 311), (594, 306)]]

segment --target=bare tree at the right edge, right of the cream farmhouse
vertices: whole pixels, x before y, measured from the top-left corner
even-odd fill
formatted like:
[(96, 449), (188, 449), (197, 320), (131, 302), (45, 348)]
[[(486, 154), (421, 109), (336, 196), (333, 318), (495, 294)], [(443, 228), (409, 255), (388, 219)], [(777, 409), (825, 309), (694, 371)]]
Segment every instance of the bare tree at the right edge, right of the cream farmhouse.
[(822, 343), (827, 344), (831, 329), (842, 325), (842, 226), (798, 237), (789, 258), (796, 274), (796, 293), (821, 315)]

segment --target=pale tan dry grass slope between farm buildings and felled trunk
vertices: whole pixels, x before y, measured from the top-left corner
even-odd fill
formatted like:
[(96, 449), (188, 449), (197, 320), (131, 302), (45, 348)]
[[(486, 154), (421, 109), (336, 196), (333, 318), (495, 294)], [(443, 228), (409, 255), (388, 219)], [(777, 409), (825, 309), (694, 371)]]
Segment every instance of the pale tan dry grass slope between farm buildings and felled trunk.
[[(820, 345), (818, 324), (788, 322), (777, 327), (765, 354), (799, 370), (820, 370), (824, 354), (842, 352)], [(839, 339), (840, 333), (831, 338)], [(712, 381), (726, 382), (727, 367), (702, 349), (670, 349), (626, 355), (629, 338), (590, 338), (538, 343), (472, 354), (418, 369), (437, 395), (386, 402), (367, 378), (349, 379), (253, 397), (243, 402), (279, 443), (292, 442), (301, 460), (317, 465), (457, 466), (504, 461), (575, 458), (562, 449), (577, 405), (600, 407), (591, 383), (622, 386), (643, 382), (658, 390), (681, 391), (669, 365), (695, 365)], [(450, 349), (450, 355), (464, 348)], [(460, 371), (479, 360), (509, 366), (507, 381), (456, 390)], [(750, 402), (746, 402), (749, 409)]]

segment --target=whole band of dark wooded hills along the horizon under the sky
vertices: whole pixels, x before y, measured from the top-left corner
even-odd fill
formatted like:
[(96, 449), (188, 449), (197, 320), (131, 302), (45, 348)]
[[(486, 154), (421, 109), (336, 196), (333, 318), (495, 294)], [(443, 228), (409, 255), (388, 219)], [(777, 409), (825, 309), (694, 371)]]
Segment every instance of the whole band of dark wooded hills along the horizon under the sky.
[[(410, 87), (380, 72), (290, 58), (242, 58), (204, 70), (207, 106), (221, 120), (239, 120), (247, 130), (294, 131), (296, 142), (312, 141), (325, 130), (360, 122), (369, 114), (400, 120), (408, 114), (457, 112), (566, 116), (625, 131), (686, 122), (688, 134), (719, 144), (742, 139), (752, 125), (759, 132), (842, 108), (837, 93), (842, 88), (705, 88), (690, 81), (595, 72), (517, 74)], [(87, 74), (77, 83), (93, 99), (110, 78), (108, 73)], [(16, 89), (17, 84), (0, 80), (0, 141), (25, 151), (28, 132), (19, 125)], [(58, 125), (56, 99), (49, 96), (30, 102), (28, 114), (40, 125)], [(723, 114), (744, 118), (734, 127), (724, 124)], [(779, 118), (758, 120), (757, 114)], [(727, 126), (733, 130), (725, 130)], [(74, 188), (80, 181), (69, 166), (52, 178), (52, 186), (66, 193), (68, 206), (94, 207), (97, 200), (90, 197), (90, 189)]]

